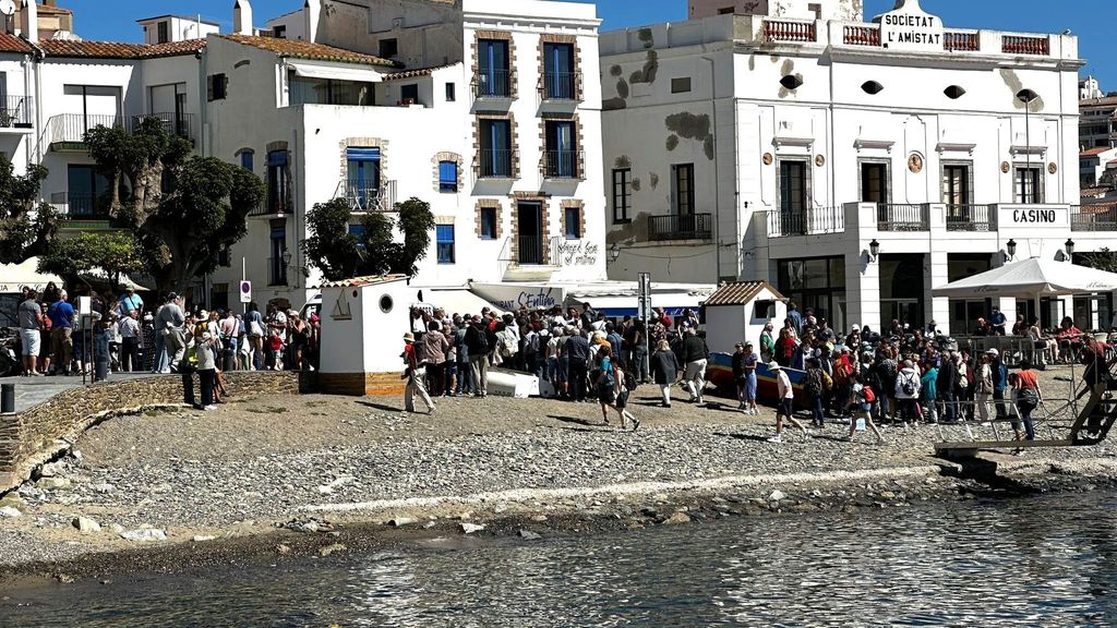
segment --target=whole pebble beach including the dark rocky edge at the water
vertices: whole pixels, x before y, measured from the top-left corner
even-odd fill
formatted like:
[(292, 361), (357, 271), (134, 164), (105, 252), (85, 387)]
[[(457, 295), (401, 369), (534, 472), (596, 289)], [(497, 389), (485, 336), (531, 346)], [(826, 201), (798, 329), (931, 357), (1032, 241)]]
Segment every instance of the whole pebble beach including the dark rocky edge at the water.
[(932, 456), (934, 428), (772, 445), (770, 410), (638, 397), (636, 434), (595, 405), (499, 398), (417, 416), (399, 399), (261, 396), (115, 418), (0, 499), (0, 580), (1083, 491), (1117, 469), (1104, 447), (960, 465)]

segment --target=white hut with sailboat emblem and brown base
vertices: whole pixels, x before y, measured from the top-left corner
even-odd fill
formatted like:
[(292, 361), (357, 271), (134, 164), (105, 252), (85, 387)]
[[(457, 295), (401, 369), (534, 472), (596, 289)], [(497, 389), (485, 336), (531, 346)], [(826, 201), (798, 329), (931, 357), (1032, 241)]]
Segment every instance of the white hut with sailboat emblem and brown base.
[(356, 277), (322, 285), (322, 364), (330, 394), (398, 394), (405, 383), (403, 334), (419, 289), (405, 275)]

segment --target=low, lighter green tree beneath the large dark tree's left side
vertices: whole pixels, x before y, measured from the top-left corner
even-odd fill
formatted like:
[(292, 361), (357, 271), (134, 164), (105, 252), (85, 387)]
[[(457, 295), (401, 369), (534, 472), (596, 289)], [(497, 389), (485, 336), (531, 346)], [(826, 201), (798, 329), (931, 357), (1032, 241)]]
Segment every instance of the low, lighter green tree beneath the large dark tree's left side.
[(136, 273), (145, 267), (140, 242), (128, 231), (87, 231), (73, 238), (59, 238), (50, 250), (39, 257), (39, 272), (60, 275), (67, 284), (78, 276), (103, 273), (113, 292), (121, 274)]

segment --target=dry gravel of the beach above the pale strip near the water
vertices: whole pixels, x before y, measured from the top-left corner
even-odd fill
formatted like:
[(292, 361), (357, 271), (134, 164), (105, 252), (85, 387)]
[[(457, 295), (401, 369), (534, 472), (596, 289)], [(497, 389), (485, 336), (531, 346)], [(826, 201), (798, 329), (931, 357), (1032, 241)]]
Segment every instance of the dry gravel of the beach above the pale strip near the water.
[[(1043, 375), (1052, 398), (1066, 386), (1057, 374), (1067, 373)], [(402, 413), (399, 398), (305, 396), (113, 419), (85, 435), (79, 457), (0, 501), (21, 512), (0, 518), (0, 567), (135, 546), (120, 533), (146, 527), (171, 541), (254, 534), (317, 505), (941, 464), (930, 427), (886, 428), (882, 446), (870, 435), (843, 443), (837, 425), (773, 445), (770, 409), (748, 417), (714, 398), (665, 409), (652, 394), (645, 387), (634, 396), (643, 421), (634, 434), (603, 426), (596, 405), (496, 397), (443, 399), (433, 416)], [(102, 532), (76, 530), (79, 515)]]

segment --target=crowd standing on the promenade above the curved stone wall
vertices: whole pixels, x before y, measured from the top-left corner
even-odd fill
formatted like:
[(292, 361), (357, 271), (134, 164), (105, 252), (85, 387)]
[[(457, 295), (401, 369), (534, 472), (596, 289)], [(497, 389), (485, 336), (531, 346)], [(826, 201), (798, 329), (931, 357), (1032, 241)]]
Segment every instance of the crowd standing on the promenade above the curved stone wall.
[(97, 364), (102, 377), (179, 372), (202, 342), (221, 371), (314, 370), (318, 363), (316, 313), (303, 321), (273, 304), (261, 314), (256, 303), (245, 314), (191, 311), (174, 293), (152, 306), (131, 288), (115, 298), (95, 291), (83, 296), (89, 297), (87, 315), (54, 283), (41, 293), (23, 288), (17, 320), (25, 377), (90, 374)]

